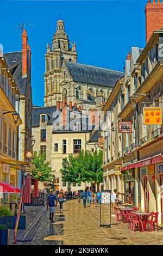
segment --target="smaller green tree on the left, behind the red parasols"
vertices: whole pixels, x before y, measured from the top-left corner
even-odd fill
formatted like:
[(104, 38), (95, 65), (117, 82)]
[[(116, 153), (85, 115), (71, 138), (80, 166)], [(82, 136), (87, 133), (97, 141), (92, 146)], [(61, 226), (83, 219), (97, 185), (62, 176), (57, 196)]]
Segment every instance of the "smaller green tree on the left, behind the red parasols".
[[(53, 173), (52, 168), (49, 166), (49, 162), (45, 161), (45, 156), (42, 156), (40, 153), (37, 155), (37, 152), (34, 152), (33, 155), (33, 164), (35, 169), (33, 170), (34, 177), (42, 182), (48, 182), (52, 184), (53, 182)], [(37, 173), (40, 172), (41, 176)]]

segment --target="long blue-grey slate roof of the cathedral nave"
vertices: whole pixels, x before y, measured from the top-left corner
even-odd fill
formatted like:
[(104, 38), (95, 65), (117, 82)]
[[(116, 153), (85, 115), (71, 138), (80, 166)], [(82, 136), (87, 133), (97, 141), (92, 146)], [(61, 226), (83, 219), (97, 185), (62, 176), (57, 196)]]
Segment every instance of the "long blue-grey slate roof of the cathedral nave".
[(124, 75), (121, 71), (68, 61), (66, 61), (66, 66), (74, 82), (96, 84), (98, 86), (114, 87), (116, 81)]

